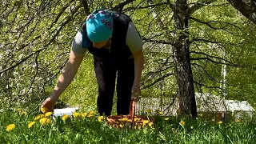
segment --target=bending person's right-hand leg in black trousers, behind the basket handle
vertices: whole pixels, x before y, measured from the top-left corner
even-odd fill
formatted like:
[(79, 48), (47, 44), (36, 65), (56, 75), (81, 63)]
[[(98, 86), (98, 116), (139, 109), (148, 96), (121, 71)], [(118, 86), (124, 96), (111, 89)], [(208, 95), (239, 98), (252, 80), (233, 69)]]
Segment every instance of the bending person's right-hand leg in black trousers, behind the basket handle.
[(131, 90), (134, 85), (134, 58), (118, 64), (117, 112), (126, 115), (130, 112)]

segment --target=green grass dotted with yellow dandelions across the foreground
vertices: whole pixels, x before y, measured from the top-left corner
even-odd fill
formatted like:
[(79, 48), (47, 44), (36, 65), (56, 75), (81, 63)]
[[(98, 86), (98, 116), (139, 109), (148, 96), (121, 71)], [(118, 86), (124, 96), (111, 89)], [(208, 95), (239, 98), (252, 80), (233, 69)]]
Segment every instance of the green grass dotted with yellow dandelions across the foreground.
[[(30, 129), (38, 112), (19, 114), (15, 110), (2, 111), (0, 117), (0, 143), (256, 143), (255, 122), (202, 122), (198, 119), (156, 117), (153, 127), (141, 130), (124, 126), (122, 129), (109, 126), (98, 116), (92, 118), (70, 117), (63, 121), (50, 118), (50, 124), (42, 126), (37, 120)], [(6, 131), (6, 126), (15, 128)]]

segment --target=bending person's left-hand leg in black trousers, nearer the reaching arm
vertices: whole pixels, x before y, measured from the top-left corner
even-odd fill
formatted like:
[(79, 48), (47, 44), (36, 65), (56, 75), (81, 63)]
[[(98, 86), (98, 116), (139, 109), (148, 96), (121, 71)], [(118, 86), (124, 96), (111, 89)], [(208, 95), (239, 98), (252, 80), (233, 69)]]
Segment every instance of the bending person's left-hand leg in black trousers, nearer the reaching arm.
[(100, 115), (110, 115), (113, 106), (116, 67), (109, 59), (94, 57), (94, 71), (98, 82), (97, 107)]

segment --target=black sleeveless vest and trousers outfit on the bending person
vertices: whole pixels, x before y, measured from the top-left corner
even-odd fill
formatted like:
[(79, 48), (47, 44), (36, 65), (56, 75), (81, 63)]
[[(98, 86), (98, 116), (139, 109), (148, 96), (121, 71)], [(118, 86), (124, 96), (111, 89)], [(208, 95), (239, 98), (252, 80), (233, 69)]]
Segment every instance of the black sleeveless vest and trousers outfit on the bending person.
[[(117, 76), (117, 112), (129, 114), (131, 89), (134, 83), (134, 58), (126, 45), (126, 33), (130, 18), (114, 13), (114, 27), (110, 49), (95, 48), (87, 38), (86, 22), (82, 26), (82, 45), (94, 55), (94, 70), (98, 81), (98, 113), (110, 115), (113, 106), (115, 79)], [(118, 73), (118, 74), (117, 74)]]

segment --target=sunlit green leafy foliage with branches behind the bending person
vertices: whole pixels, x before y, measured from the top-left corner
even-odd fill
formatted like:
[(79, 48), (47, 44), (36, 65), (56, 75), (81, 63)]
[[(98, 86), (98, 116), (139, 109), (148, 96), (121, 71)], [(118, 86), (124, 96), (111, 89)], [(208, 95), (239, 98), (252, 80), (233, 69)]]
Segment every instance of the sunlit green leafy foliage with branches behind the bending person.
[[(2, 2), (0, 106), (27, 106), (27, 102), (38, 106), (49, 96), (66, 66), (71, 42), (87, 12), (99, 7), (114, 9), (122, 2)], [(188, 8), (198, 4), (198, 1), (187, 2)], [(174, 33), (182, 31), (174, 29), (173, 4), (174, 1), (140, 0), (122, 7), (144, 39), (143, 97), (173, 97), (178, 90), (172, 49), (177, 36)], [(246, 100), (255, 107), (254, 24), (226, 1), (194, 7), (189, 17), (188, 38), (195, 90), (223, 95), (220, 87), (225, 63), (226, 98)], [(85, 109), (95, 108), (97, 89), (89, 54), (60, 100)]]

